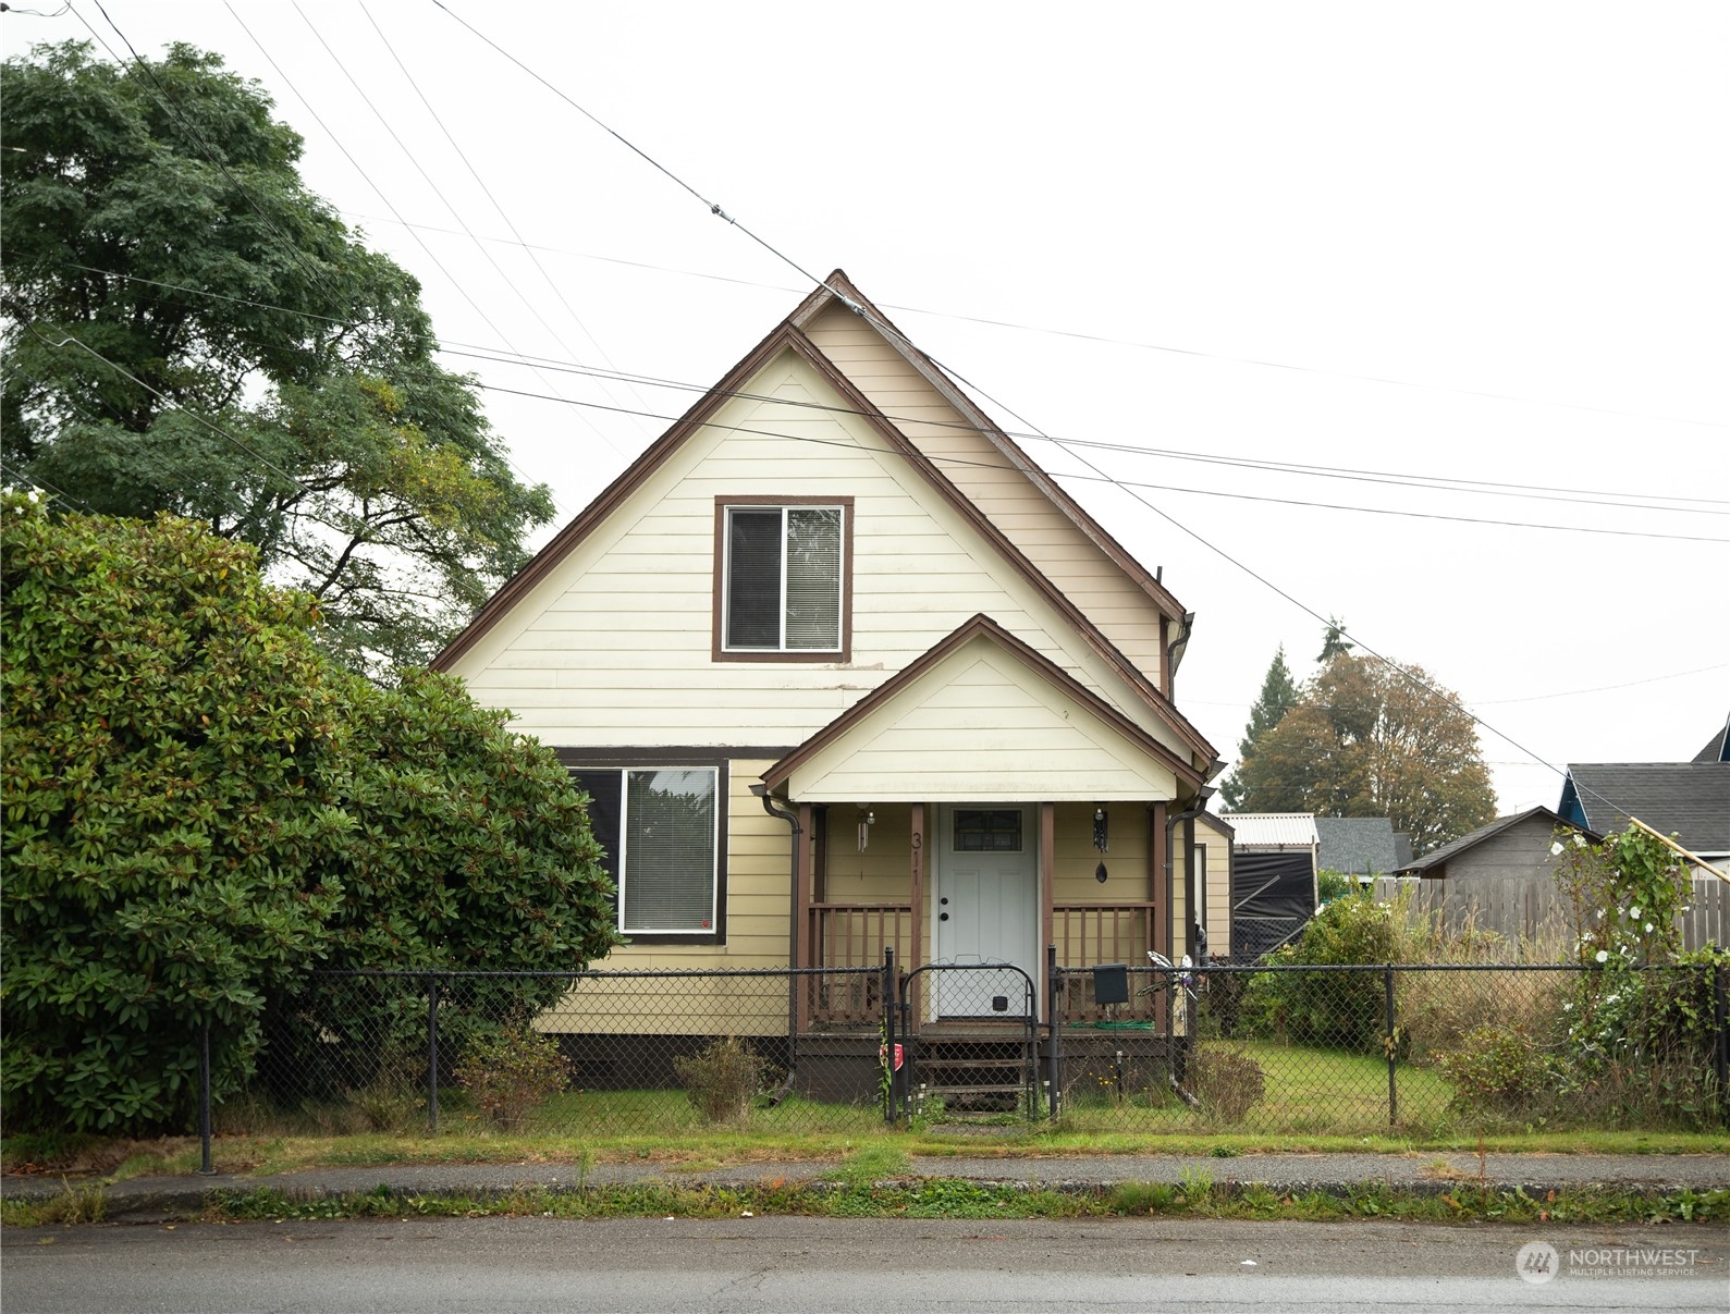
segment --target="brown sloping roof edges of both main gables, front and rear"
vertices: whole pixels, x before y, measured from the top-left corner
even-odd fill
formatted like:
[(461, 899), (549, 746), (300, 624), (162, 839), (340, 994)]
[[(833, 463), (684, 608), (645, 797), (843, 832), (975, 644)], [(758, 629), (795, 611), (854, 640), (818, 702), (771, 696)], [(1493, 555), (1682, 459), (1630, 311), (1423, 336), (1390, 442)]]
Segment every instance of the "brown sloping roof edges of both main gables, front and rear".
[[(815, 342), (804, 334), (803, 325), (813, 322), (813, 316), (822, 308), (846, 306), (855, 315), (862, 316), (862, 332), (875, 334), (881, 341), (889, 342), (894, 351), (898, 351), (907, 361), (910, 361), (934, 387), (938, 387), (952, 406), (955, 406), (964, 417), (967, 417), (969, 425), (977, 425), (977, 431), (984, 434), (991, 444), (1010, 460), (1012, 467), (1021, 472), (1038, 491), (1043, 494), (1050, 505), (1055, 505), (1062, 515), (1076, 526), (1076, 529), (1085, 534), (1102, 553), (1105, 553), (1123, 574), (1133, 581), (1135, 588), (1150, 600), (1157, 612), (1164, 616), (1169, 622), (1171, 633), (1182, 635), (1187, 631), (1187, 614), (1182, 605), (1173, 598), (1157, 577), (1150, 576), (1145, 567), (1135, 562), (1130, 553), (1126, 553), (1099, 524), (1092, 520), (1067, 494), (1062, 493), (1052, 482), (1043, 470), (1040, 470), (1024, 453), (1009, 441), (995, 425), (991, 425), (979, 411), (965, 401), (960, 389), (950, 380), (927, 356), (919, 353), (907, 339), (875, 309), (868, 301), (865, 301), (858, 290), (848, 282), (846, 275), (839, 270), (834, 271), (825, 285), (811, 292), (792, 315), (789, 315), (780, 325), (777, 325), (744, 360), (735, 365), (721, 382), (718, 382), (709, 392), (706, 392), (685, 415), (676, 420), (649, 450), (631, 463), (625, 474), (621, 474), (607, 489), (604, 489), (583, 512), (580, 512), (535, 558), (512, 577), (498, 593), (495, 593), (484, 607), (476, 614), (474, 621), (460, 633), (455, 640), (434, 659), (432, 667), (439, 671), (448, 671), (458, 666), (464, 654), (474, 648), (488, 631), (498, 624), (510, 610), (522, 600), (526, 600), (536, 586), (547, 579), (559, 565), (564, 562), (583, 541), (599, 531), (607, 519), (640, 489), (645, 481), (659, 470), (673, 453), (676, 453), (694, 434), (704, 429), (704, 425), (716, 422), (716, 411), (725, 406), (732, 398), (740, 396), (751, 380), (782, 353), (794, 353), (803, 360), (811, 370), (815, 370), (825, 384), (834, 387), (836, 394), (843, 399), (846, 408), (862, 417), (872, 429), (887, 443), (887, 446), (905, 460), (905, 465), (917, 472), (917, 475), (926, 481), (926, 484), (936, 493), (967, 522), (977, 531), (990, 546), (1000, 553), (1000, 557), (1009, 562), (1016, 572), (1019, 572), (1026, 581), (1029, 581), (1040, 595), (1064, 617), (1067, 626), (1081, 638), (1081, 641), (1093, 650), (1097, 657), (1105, 660), (1118, 676), (1128, 685), (1130, 690), (1154, 712), (1154, 716), (1169, 728), (1171, 733), (1194, 754), (1199, 764), (1202, 764), (1202, 776), (1211, 776), (1221, 766), (1218, 762), (1218, 754), (1208, 738), (1194, 726), (1190, 721), (1178, 712), (1171, 698), (1157, 686), (1156, 679), (1149, 679), (1131, 659), (1105, 635), (1105, 631), (1097, 624), (1083, 609), (1059, 586), (1055, 586), (1047, 572), (1043, 572), (1035, 560), (1029, 557), (1031, 552), (1038, 552), (1038, 545), (1029, 543), (1024, 550), (1017, 545), (1005, 527), (993, 522), (976, 501), (967, 496), (955, 481), (946, 477), (901, 429), (903, 420), (891, 418), (862, 391), (860, 384), (849, 377), (834, 360), (830, 360)], [(839, 313), (839, 311), (837, 311)], [(1041, 503), (1043, 505), (1043, 503)], [(1180, 647), (1178, 641), (1171, 645), (1173, 655)], [(1194, 764), (1185, 764), (1185, 771), (1192, 773)]]

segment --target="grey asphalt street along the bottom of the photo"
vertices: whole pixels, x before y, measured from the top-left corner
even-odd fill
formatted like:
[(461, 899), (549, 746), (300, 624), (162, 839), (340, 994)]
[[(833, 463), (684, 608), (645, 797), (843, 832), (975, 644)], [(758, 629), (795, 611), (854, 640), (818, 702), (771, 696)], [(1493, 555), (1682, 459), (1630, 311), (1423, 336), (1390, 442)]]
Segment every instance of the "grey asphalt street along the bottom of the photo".
[[(9, 1231), (7, 1314), (1730, 1307), (1727, 1228), (405, 1219)], [(1621, 1260), (1611, 1262), (1614, 1255)], [(1571, 1257), (1581, 1262), (1571, 1266)], [(1593, 1260), (1588, 1269), (1585, 1260)], [(1640, 1269), (1635, 1260), (1650, 1260)], [(1533, 1281), (1541, 1276), (1543, 1281)]]

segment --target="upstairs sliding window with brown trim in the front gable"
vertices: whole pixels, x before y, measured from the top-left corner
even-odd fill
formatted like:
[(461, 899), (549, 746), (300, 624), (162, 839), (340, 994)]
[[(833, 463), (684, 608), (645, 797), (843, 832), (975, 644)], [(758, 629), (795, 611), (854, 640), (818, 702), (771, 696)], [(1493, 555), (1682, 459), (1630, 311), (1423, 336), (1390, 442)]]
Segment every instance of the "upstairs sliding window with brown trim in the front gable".
[(716, 507), (716, 659), (846, 660), (849, 500)]

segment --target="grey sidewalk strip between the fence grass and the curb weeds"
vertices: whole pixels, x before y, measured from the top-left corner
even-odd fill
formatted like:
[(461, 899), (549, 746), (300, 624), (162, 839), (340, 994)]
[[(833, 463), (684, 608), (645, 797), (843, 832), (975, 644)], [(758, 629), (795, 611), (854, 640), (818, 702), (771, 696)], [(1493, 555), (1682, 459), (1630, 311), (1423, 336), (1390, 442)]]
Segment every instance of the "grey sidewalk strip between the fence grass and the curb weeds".
[[(773, 1181), (836, 1181), (839, 1164), (759, 1162), (730, 1167), (683, 1169), (678, 1164), (597, 1164), (586, 1174), (576, 1164), (389, 1164), (379, 1167), (327, 1167), (270, 1176), (133, 1177), (106, 1184), (107, 1217), (147, 1221), (197, 1212), (209, 1191), (270, 1188), (299, 1198), (363, 1193), (388, 1186), (393, 1195), (498, 1195), (517, 1188), (571, 1191), (581, 1186), (675, 1183), (680, 1186), (749, 1188)], [(1214, 1183), (1266, 1184), (1282, 1193), (1386, 1183), (1393, 1188), (1441, 1191), (1460, 1183), (1490, 1188), (1524, 1188), (1528, 1193), (1560, 1188), (1609, 1186), (1624, 1190), (1697, 1191), (1730, 1188), (1727, 1155), (1099, 1155), (1088, 1158), (948, 1158), (915, 1157), (896, 1179), (965, 1179), (1026, 1188), (1097, 1190), (1121, 1183), (1180, 1183), (1208, 1174)], [(86, 1177), (76, 1184), (100, 1183)], [(42, 1200), (59, 1195), (54, 1176), (9, 1176), (0, 1195)]]

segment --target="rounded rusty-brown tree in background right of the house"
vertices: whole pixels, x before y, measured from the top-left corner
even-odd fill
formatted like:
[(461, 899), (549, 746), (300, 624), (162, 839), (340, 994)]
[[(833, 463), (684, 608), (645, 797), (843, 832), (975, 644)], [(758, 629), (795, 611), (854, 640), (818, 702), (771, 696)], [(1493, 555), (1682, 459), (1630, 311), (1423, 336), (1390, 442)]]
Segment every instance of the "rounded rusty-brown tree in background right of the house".
[(1472, 718), (1422, 667), (1341, 654), (1242, 768), (1244, 807), (1386, 816), (1424, 854), (1495, 818)]

